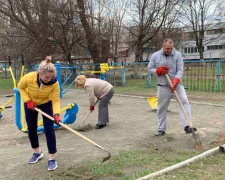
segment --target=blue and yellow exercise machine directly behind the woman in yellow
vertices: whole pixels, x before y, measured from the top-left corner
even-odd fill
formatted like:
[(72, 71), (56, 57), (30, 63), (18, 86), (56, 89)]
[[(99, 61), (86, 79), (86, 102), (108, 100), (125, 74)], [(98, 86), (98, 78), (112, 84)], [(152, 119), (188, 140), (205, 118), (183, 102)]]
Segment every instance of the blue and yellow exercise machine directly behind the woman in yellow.
[[(60, 71), (60, 70), (58, 70), (58, 68), (60, 66), (59, 67), (58, 66), (56, 66), (56, 69), (57, 69), (57, 71)], [(23, 58), (22, 58), (22, 69), (21, 69), (20, 78), (23, 77), (23, 72), (24, 72), (24, 61), (23, 61)], [(27, 133), (28, 129), (27, 129), (27, 125), (26, 125), (26, 122), (25, 122), (24, 102), (21, 99), (18, 88), (16, 88), (16, 80), (15, 80), (15, 77), (14, 77), (13, 73), (11, 73), (11, 75), (12, 75), (12, 78), (13, 78), (13, 81), (14, 81), (14, 87), (15, 87), (14, 88), (14, 92), (15, 92), (15, 122), (16, 122), (16, 125), (17, 125), (19, 130), (21, 130), (24, 133)], [(76, 114), (78, 112), (78, 106), (75, 103), (68, 104), (66, 107), (64, 107), (63, 109), (60, 110), (60, 113), (62, 113), (64, 111), (66, 111), (66, 113), (64, 115), (64, 118), (62, 119), (62, 123), (63, 124), (74, 123), (75, 120), (76, 120)], [(60, 127), (60, 126), (56, 125), (56, 124), (54, 125), (54, 128), (58, 128), (58, 127)], [(44, 131), (42, 119), (38, 120), (37, 131), (38, 132)]]

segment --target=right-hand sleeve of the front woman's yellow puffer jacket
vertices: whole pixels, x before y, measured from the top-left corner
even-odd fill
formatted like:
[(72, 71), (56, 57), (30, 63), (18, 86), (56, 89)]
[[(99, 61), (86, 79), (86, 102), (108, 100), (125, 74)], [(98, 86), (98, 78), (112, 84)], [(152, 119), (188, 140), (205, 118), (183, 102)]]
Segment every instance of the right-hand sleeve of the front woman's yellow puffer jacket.
[(59, 83), (58, 83), (58, 81), (53, 85), (52, 106), (53, 106), (53, 114), (60, 114), (60, 98), (59, 98)]

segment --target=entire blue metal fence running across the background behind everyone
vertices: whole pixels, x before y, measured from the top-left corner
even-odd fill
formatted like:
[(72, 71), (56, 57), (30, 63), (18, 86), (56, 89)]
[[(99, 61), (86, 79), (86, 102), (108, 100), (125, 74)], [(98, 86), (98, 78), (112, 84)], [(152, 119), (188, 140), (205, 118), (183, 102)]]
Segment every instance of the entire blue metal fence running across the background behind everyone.
[[(110, 66), (124, 66), (121, 69), (110, 69), (105, 73), (105, 80), (114, 86), (124, 85), (122, 76), (125, 77), (125, 86), (129, 82), (138, 80), (146, 83), (146, 88), (156, 88), (156, 78), (147, 73), (148, 62), (111, 64)], [(61, 80), (65, 87), (68, 87), (74, 81), (80, 71), (94, 71), (96, 64), (83, 64), (78, 66), (61, 66)], [(21, 73), (21, 65), (12, 63), (11, 65), (14, 76), (18, 81)], [(25, 73), (33, 71), (34, 66), (25, 64)], [(123, 74), (124, 73), (124, 74)], [(87, 77), (100, 78), (99, 73), (84, 73)], [(12, 77), (8, 69), (8, 63), (2, 63), (0, 68), (0, 89), (11, 89), (13, 87)], [(8, 80), (8, 81), (7, 81)], [(199, 60), (184, 61), (184, 74), (182, 83), (188, 90), (205, 91), (205, 92), (225, 92), (225, 60)]]

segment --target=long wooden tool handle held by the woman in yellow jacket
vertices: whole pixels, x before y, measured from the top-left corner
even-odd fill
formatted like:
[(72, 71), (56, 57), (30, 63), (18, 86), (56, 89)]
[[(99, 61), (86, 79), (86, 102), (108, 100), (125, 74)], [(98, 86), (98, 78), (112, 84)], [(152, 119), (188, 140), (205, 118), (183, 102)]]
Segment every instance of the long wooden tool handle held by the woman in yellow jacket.
[[(55, 121), (55, 119), (54, 119), (52, 116), (46, 114), (46, 113), (43, 112), (42, 110), (40, 110), (40, 109), (38, 109), (38, 108), (36, 108), (36, 107), (34, 107), (34, 109), (35, 109), (36, 111), (38, 111), (39, 113), (41, 113), (42, 115), (44, 115), (44, 116), (46, 116), (47, 118), (49, 118), (50, 120)], [(88, 142), (91, 143), (92, 145), (94, 145), (94, 146), (96, 146), (96, 147), (102, 149), (103, 151), (106, 151), (103, 147), (101, 147), (100, 145), (98, 145), (97, 143), (95, 143), (94, 141), (92, 141), (91, 139), (88, 139), (87, 137), (85, 137), (85, 136), (83, 136), (82, 134), (78, 133), (77, 131), (73, 130), (73, 129), (70, 128), (69, 126), (67, 126), (67, 125), (65, 125), (65, 124), (63, 124), (63, 123), (61, 123), (61, 122), (59, 122), (59, 125), (62, 126), (62, 127), (64, 127), (64, 128), (66, 128), (66, 129), (69, 130), (70, 132), (76, 134), (77, 136), (81, 137), (81, 138), (84, 139), (85, 141), (88, 141)], [(108, 151), (106, 151), (106, 152), (108, 152)]]

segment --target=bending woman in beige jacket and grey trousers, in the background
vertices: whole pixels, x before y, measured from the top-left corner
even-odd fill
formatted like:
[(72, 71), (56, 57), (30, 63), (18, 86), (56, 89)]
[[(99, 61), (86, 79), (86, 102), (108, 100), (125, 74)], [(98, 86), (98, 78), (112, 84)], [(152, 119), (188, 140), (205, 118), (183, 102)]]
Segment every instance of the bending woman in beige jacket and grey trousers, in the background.
[(79, 75), (76, 78), (75, 86), (85, 88), (89, 94), (90, 111), (94, 110), (96, 98), (100, 100), (98, 111), (98, 124), (95, 129), (102, 129), (109, 123), (108, 104), (114, 95), (113, 86), (107, 81), (96, 78), (86, 78)]

